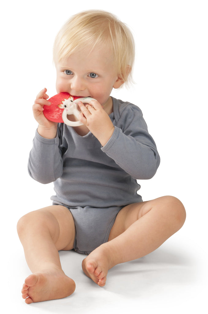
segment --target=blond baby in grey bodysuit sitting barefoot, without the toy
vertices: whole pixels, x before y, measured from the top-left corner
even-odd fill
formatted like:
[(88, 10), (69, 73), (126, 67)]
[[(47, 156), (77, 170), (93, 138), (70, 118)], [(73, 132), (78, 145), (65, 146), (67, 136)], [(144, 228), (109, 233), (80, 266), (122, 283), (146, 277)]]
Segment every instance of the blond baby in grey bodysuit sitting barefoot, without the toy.
[(131, 82), (134, 55), (130, 30), (105, 11), (72, 16), (56, 36), (57, 93), (95, 100), (79, 101), (83, 125), (75, 127), (47, 120), (45, 88), (33, 105), (38, 128), (29, 174), (54, 182), (55, 195), (52, 205), (24, 215), (17, 225), (32, 272), (22, 289), (27, 304), (74, 292), (59, 250), (86, 255), (83, 272), (103, 287), (110, 268), (154, 251), (184, 224), (177, 198), (143, 202), (137, 193), (136, 180), (152, 178), (160, 158), (138, 106), (110, 96)]

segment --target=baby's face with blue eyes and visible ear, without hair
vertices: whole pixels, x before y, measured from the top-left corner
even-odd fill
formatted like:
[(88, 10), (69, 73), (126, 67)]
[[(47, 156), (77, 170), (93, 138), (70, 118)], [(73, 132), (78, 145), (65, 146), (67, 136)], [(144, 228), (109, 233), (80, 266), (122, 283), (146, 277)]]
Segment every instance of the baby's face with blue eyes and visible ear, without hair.
[(111, 90), (123, 81), (116, 74), (110, 53), (94, 48), (93, 51), (73, 53), (56, 63), (56, 91), (72, 96), (95, 98), (102, 106), (108, 101)]

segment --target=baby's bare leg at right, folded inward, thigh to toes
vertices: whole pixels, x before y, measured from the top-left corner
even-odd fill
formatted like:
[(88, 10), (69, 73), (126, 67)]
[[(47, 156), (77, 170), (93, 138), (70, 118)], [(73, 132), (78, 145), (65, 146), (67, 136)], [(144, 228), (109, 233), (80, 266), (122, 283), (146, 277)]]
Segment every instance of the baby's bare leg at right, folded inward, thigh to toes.
[(182, 227), (185, 217), (183, 204), (171, 196), (125, 206), (116, 217), (109, 241), (83, 260), (84, 273), (104, 286), (110, 268), (156, 250)]

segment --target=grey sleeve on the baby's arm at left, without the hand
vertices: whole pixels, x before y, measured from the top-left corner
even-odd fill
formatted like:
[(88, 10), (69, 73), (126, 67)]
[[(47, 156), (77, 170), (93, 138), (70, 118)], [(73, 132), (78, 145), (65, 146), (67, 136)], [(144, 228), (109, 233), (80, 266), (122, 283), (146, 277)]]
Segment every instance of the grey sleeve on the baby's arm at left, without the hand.
[(36, 181), (46, 184), (62, 175), (63, 161), (59, 149), (59, 138), (47, 139), (37, 132), (29, 154), (28, 172)]

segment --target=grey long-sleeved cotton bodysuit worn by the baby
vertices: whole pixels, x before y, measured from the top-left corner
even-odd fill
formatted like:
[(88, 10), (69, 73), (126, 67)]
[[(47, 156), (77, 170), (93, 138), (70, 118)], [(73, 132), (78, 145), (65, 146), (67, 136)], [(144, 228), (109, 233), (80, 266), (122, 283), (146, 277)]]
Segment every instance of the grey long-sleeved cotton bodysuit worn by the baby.
[(160, 157), (141, 110), (113, 98), (110, 119), (115, 130), (105, 146), (89, 132), (58, 124), (56, 138), (36, 131), (28, 170), (36, 181), (54, 182), (53, 204), (71, 211), (75, 226), (74, 249), (89, 254), (108, 241), (116, 215), (125, 205), (141, 202), (136, 179), (150, 179)]

